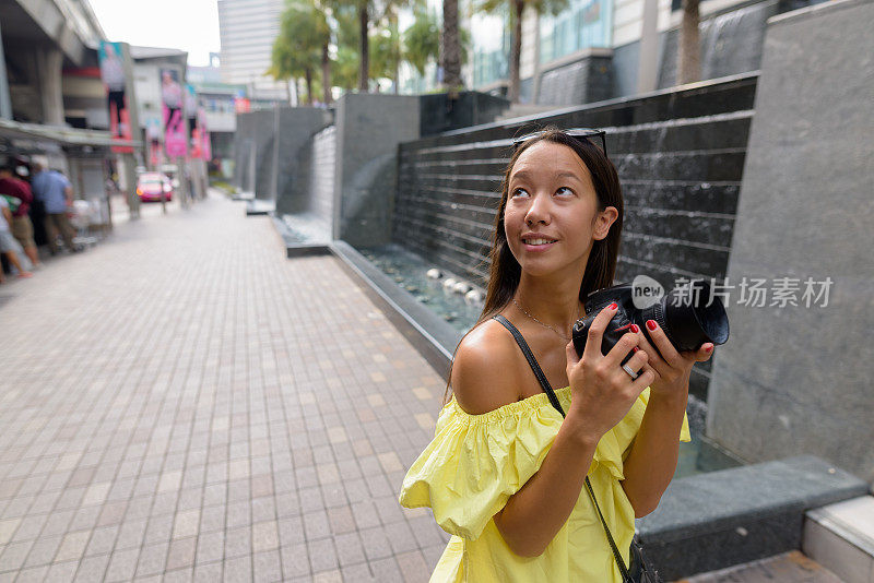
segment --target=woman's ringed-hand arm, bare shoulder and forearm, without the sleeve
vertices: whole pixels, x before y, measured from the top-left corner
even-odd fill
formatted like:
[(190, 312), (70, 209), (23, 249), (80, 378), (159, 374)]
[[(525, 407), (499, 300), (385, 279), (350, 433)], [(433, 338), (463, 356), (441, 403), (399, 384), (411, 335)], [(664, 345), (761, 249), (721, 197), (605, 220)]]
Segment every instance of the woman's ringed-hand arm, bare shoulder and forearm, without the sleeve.
[[(601, 437), (625, 417), (654, 378), (649, 370), (633, 381), (619, 368), (622, 358), (638, 342), (635, 334), (625, 334), (610, 355), (601, 355), (601, 337), (614, 313), (615, 309), (605, 309), (595, 318), (582, 358), (577, 357), (572, 343), (566, 346), (571, 388), (567, 417), (540, 469), (494, 516), (507, 546), (522, 557), (541, 555), (567, 522)], [(516, 365), (518, 358), (512, 348), (516, 346), (511, 341), (504, 343), (485, 334), (470, 335), (459, 346), (452, 388), (464, 411), (486, 413), (517, 400), (525, 370)], [(636, 369), (645, 362), (643, 355), (635, 355), (628, 361)], [(496, 378), (500, 380), (496, 382)]]

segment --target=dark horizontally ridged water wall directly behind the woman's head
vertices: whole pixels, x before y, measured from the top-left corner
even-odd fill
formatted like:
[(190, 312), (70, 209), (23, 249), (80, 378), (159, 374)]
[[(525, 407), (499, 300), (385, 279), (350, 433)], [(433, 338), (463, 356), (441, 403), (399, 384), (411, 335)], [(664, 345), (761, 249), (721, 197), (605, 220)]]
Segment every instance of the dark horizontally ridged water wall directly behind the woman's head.
[[(402, 143), (392, 240), (484, 285), (513, 135), (547, 124), (607, 131), (625, 197), (617, 282), (725, 275), (757, 75), (576, 107)], [(692, 391), (706, 400), (709, 364)]]

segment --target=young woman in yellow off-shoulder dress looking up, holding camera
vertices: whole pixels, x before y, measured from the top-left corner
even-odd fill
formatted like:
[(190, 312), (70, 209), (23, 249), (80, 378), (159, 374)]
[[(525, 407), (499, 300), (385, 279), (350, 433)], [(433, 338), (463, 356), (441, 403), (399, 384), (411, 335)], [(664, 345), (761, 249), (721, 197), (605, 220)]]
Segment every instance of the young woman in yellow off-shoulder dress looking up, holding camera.
[[(615, 306), (599, 313), (581, 358), (570, 340), (587, 295), (614, 284), (623, 199), (602, 147), (548, 130), (523, 141), (507, 168), (485, 307), (457, 348), (453, 396), (400, 496), (404, 507), (430, 507), (453, 535), (433, 582), (622, 582), (586, 476), (627, 566), (634, 519), (656, 509), (677, 441), (689, 440), (689, 373), (712, 344), (680, 354), (650, 321), (659, 352), (635, 326), (603, 355)], [(565, 418), (496, 314), (563, 388)], [(621, 366), (629, 352), (630, 372)]]

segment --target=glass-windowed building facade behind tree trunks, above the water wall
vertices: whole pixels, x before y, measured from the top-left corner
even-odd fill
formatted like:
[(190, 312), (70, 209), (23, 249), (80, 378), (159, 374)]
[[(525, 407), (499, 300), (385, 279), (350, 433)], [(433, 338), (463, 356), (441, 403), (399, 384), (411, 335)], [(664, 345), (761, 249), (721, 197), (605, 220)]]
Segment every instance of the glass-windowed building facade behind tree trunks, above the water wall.
[[(701, 0), (701, 80), (757, 70), (767, 20), (820, 1)], [(486, 14), (475, 2), (459, 2), (461, 26), (470, 34), (462, 76), (468, 87), (503, 95), (509, 82), (509, 7)], [(675, 85), (682, 16), (681, 0), (569, 0), (556, 15), (527, 8), (520, 102), (581, 105)], [(401, 87), (439, 85), (439, 72), (425, 76), (413, 72)]]

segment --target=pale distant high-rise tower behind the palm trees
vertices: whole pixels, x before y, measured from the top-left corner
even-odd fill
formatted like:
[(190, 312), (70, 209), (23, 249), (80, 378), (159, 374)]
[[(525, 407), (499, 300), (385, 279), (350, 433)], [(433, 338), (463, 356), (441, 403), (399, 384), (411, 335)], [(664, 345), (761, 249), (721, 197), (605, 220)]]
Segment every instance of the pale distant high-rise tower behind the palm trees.
[(246, 85), (256, 99), (287, 99), (283, 82), (267, 75), (283, 0), (218, 0), (222, 79)]

